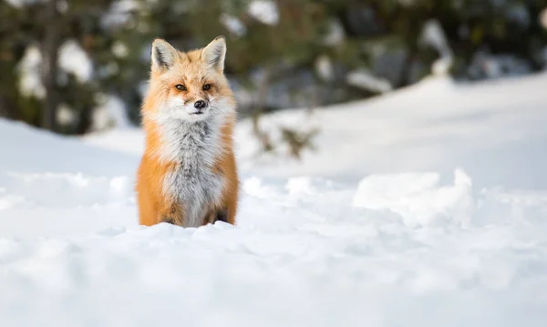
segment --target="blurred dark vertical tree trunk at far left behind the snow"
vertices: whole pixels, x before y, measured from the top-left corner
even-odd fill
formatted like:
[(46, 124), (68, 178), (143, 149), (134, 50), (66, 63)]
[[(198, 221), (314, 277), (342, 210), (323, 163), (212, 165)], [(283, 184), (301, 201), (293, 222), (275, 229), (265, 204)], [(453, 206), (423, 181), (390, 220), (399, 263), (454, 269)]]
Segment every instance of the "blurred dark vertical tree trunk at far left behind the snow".
[(42, 80), (46, 87), (46, 101), (42, 111), (42, 128), (57, 130), (57, 58), (60, 47), (60, 16), (57, 12), (57, 0), (46, 4), (45, 39), (42, 46), (43, 71)]

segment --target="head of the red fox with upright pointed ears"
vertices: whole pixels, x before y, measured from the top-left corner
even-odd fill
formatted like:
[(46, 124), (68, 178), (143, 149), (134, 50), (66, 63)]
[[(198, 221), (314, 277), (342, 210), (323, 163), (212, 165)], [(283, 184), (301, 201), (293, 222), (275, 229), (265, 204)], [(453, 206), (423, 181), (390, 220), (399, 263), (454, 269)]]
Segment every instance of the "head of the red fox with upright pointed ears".
[(224, 36), (189, 52), (155, 39), (148, 96), (154, 105), (145, 115), (156, 120), (197, 122), (233, 112), (232, 90), (224, 76), (225, 56)]

